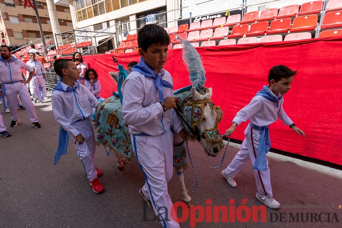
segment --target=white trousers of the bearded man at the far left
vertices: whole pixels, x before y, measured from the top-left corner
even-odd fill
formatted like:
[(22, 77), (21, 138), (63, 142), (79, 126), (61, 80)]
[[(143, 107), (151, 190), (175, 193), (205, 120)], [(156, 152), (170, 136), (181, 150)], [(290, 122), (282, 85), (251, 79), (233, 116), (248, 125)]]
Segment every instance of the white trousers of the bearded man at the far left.
[(18, 120), (17, 109), (17, 95), (20, 96), (22, 103), (24, 104), (28, 117), (32, 123), (38, 122), (35, 106), (31, 102), (30, 94), (28, 93), (25, 84), (17, 82), (14, 84), (5, 84), (7, 105), (10, 109), (12, 120)]

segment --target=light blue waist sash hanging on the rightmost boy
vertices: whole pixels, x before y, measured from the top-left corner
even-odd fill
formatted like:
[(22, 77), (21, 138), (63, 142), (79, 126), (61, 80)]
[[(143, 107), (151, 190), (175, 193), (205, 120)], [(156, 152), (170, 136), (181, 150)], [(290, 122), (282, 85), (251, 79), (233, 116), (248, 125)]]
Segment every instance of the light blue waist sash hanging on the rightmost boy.
[(254, 124), (249, 124), (251, 128), (262, 131), (260, 135), (260, 143), (259, 143), (259, 150), (257, 154), (257, 158), (255, 159), (255, 162), (253, 164), (254, 170), (267, 170), (267, 162), (266, 162), (266, 153), (268, 153), (268, 150), (271, 149), (271, 139), (269, 138), (269, 130), (268, 126), (265, 127), (259, 127)]

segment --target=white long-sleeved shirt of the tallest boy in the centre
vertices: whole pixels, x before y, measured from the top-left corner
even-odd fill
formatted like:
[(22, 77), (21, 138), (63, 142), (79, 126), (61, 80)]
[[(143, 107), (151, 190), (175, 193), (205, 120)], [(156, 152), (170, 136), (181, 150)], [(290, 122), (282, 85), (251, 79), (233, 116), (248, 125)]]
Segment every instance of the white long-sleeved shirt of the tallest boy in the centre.
[[(173, 83), (170, 73), (164, 69), (159, 70), (161, 75), (165, 71), (163, 80)], [(173, 96), (173, 90), (163, 87), (164, 98)], [(147, 78), (137, 71), (131, 72), (121, 87), (122, 117), (131, 134), (146, 133), (161, 135), (170, 127), (179, 133), (182, 123), (173, 109), (163, 112), (159, 103), (158, 89), (155, 79)]]

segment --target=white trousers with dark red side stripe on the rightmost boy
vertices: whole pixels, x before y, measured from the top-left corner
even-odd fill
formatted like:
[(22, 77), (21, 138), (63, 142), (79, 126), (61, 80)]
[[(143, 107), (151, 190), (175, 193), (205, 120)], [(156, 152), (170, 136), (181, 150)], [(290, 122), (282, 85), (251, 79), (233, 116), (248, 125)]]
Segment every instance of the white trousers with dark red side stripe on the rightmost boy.
[[(225, 173), (228, 176), (235, 177), (248, 161), (251, 161), (252, 165), (254, 164), (259, 150), (260, 134), (261, 131), (252, 129), (248, 124), (245, 130), (246, 138), (241, 144), (240, 151), (235, 155), (232, 162), (225, 169)], [(267, 170), (259, 171), (253, 169), (253, 172), (259, 194), (273, 197), (268, 161)]]

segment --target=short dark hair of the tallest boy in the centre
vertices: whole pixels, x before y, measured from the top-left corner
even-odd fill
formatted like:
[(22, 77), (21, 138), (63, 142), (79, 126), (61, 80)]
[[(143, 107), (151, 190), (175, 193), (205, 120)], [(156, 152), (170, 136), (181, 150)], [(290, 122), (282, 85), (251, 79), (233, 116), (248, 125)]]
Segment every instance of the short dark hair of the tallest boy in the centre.
[(144, 25), (138, 32), (138, 46), (144, 52), (152, 44), (169, 45), (170, 37), (168, 32), (156, 24)]

